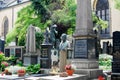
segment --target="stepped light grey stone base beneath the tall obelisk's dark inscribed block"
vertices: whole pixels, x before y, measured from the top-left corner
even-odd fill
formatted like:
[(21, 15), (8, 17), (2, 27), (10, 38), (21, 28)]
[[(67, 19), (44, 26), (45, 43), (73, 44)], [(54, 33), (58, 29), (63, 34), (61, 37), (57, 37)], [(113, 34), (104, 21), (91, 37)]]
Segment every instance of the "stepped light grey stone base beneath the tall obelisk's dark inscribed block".
[(76, 74), (84, 74), (88, 79), (98, 78), (103, 74), (103, 71), (98, 68), (99, 64), (96, 60), (74, 59), (71, 63), (76, 66)]

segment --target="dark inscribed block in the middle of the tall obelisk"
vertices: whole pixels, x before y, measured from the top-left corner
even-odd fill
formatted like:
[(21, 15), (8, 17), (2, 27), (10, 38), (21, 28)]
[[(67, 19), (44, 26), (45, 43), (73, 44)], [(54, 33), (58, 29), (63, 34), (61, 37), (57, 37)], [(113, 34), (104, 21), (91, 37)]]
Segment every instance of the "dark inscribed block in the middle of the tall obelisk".
[[(74, 58), (95, 58), (95, 39), (76, 39), (75, 40), (75, 49), (74, 49)], [(90, 51), (93, 49), (93, 51)], [(92, 53), (91, 56), (88, 53)]]

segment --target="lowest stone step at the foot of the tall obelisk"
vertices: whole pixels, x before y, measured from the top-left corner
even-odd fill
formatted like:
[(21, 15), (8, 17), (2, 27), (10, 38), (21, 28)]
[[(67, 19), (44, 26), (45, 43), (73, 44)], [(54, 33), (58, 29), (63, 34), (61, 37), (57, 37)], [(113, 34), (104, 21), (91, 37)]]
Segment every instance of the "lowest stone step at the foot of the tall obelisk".
[(75, 74), (84, 74), (88, 76), (88, 79), (94, 79), (103, 75), (103, 71), (100, 69), (76, 69)]

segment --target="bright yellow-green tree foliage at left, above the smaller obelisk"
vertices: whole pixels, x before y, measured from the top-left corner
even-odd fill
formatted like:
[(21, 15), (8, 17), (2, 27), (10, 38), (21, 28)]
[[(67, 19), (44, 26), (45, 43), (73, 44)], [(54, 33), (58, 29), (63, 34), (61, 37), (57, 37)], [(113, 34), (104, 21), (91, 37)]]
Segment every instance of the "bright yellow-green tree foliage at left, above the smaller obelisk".
[(6, 42), (9, 43), (18, 38), (18, 45), (25, 45), (25, 38), (27, 28), (30, 24), (43, 29), (43, 23), (40, 23), (40, 18), (35, 15), (35, 11), (31, 8), (31, 5), (21, 9), (18, 12), (18, 18), (15, 24), (15, 27), (7, 34)]

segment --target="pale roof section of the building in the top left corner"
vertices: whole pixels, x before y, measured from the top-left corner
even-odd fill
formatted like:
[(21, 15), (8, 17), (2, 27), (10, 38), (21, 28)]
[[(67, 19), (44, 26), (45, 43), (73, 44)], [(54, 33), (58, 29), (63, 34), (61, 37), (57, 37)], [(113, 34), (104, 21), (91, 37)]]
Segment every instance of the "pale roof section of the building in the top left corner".
[(0, 0), (0, 9), (24, 3), (29, 0)]

